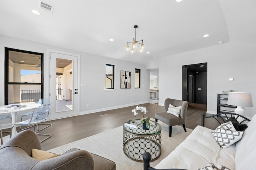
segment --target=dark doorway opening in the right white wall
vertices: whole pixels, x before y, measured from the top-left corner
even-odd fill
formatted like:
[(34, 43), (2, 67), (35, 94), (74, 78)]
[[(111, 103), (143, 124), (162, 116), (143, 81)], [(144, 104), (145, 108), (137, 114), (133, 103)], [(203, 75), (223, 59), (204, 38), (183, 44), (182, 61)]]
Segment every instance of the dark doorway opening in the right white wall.
[(188, 108), (207, 109), (207, 63), (182, 66), (182, 100)]

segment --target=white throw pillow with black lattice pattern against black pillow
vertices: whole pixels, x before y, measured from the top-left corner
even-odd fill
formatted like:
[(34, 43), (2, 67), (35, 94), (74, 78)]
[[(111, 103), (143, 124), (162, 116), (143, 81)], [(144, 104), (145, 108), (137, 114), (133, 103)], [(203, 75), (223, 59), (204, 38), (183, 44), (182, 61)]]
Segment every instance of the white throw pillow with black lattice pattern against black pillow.
[(212, 135), (222, 148), (228, 148), (242, 138), (243, 131), (236, 131), (231, 121), (219, 125)]

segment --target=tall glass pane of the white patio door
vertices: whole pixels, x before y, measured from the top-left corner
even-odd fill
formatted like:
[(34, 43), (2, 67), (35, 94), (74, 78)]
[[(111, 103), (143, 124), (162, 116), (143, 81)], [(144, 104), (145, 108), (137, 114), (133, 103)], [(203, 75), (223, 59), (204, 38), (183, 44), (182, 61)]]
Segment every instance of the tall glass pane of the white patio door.
[(56, 113), (73, 109), (72, 71), (72, 60), (56, 58)]

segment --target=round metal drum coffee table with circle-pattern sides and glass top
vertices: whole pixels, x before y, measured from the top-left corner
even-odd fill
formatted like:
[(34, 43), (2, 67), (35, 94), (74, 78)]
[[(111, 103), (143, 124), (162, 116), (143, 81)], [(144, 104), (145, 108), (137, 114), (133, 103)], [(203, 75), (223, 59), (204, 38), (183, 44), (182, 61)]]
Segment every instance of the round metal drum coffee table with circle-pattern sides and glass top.
[(151, 154), (151, 161), (156, 160), (160, 156), (162, 127), (159, 123), (151, 121), (148, 130), (144, 130), (142, 126), (133, 128), (127, 125), (123, 125), (123, 129), (123, 150), (128, 158), (143, 162), (142, 155), (144, 152)]

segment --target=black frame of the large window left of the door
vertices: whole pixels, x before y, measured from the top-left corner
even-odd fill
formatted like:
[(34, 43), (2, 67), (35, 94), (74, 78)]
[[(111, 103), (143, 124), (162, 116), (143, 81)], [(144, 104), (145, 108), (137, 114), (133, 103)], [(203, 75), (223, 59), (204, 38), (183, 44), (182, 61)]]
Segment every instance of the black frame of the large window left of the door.
[[(29, 53), (34, 55), (40, 55), (41, 56), (41, 83), (22, 83), (22, 82), (9, 82), (9, 51), (16, 51), (20, 53)], [(12, 49), (8, 47), (4, 47), (4, 104), (8, 104), (8, 90), (9, 85), (25, 85), (25, 84), (31, 84), (41, 85), (41, 98), (44, 98), (44, 54), (43, 53), (37, 53), (32, 51), (25, 51), (25, 50), (19, 50), (19, 49)]]

